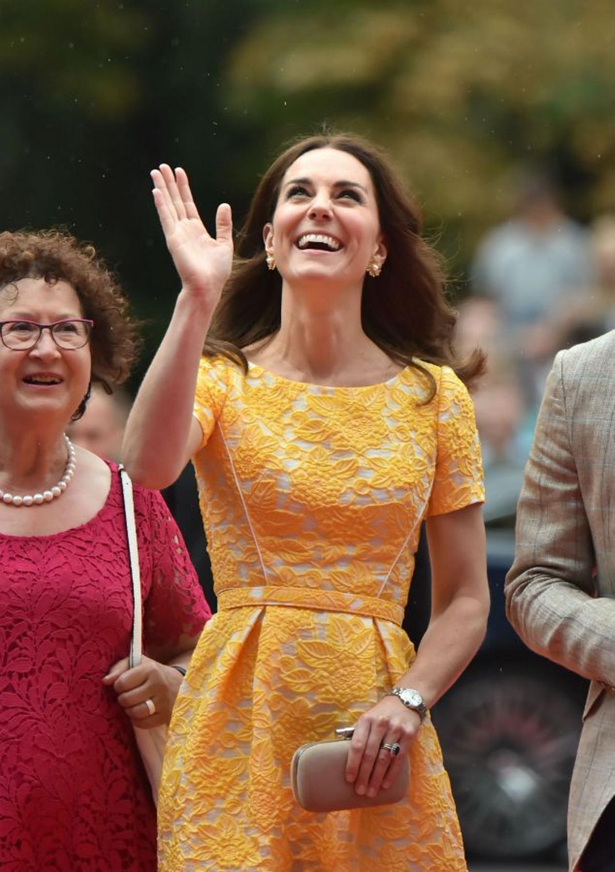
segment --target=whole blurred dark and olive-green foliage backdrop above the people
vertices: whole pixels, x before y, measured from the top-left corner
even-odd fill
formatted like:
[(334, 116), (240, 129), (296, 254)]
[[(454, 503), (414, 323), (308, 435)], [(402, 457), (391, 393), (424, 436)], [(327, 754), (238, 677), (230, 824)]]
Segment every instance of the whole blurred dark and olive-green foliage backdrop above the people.
[(580, 220), (614, 207), (611, 0), (0, 0), (0, 20), (1, 224), (92, 240), (150, 350), (176, 292), (149, 194), (161, 160), (209, 221), (222, 200), (240, 221), (284, 141), (365, 133), (456, 278), (519, 165), (550, 167)]

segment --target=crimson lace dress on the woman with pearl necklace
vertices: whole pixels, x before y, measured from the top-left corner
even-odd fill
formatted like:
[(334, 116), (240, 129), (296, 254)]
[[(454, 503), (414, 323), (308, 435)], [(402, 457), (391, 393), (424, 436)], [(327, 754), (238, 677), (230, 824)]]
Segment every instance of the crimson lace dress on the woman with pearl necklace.
[[(92, 521), (0, 534), (0, 869), (156, 868), (133, 730), (102, 678), (126, 657), (132, 594), (117, 467)], [(58, 508), (59, 505), (58, 505)], [(209, 616), (161, 495), (134, 489), (146, 646)], [(22, 509), (20, 509), (22, 511)]]

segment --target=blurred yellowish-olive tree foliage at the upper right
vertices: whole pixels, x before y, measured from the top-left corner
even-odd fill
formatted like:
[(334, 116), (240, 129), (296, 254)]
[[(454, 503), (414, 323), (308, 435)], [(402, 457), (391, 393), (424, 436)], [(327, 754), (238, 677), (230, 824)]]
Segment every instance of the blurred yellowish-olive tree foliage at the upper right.
[(262, 143), (255, 154), (323, 119), (366, 133), (396, 158), (458, 268), (509, 211), (520, 162), (548, 165), (581, 219), (613, 208), (609, 0), (279, 0), (266, 10), (227, 77)]

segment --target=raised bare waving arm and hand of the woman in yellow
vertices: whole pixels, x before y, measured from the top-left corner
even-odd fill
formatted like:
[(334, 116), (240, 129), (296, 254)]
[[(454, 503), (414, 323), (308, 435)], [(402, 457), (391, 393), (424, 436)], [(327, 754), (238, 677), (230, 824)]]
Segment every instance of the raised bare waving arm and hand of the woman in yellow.
[(181, 291), (167, 333), (147, 370), (128, 418), (122, 460), (144, 487), (172, 484), (202, 440), (193, 418), (204, 339), (232, 263), (230, 208), (216, 215), (216, 238), (204, 227), (188, 176), (162, 164), (152, 173), (154, 202)]

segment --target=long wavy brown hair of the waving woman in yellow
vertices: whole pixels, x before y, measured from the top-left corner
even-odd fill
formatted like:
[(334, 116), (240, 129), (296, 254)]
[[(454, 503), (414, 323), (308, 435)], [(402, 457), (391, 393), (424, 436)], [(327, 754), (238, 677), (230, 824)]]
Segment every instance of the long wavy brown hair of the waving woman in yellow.
[(385, 153), (350, 133), (297, 140), (263, 175), (237, 236), (233, 271), (203, 354), (222, 353), (247, 371), (241, 349), (272, 336), (279, 328), (282, 278), (277, 270), (266, 267), (263, 227), (273, 218), (290, 165), (317, 148), (352, 154), (372, 177), (387, 256), (380, 276), (366, 275), (363, 284), (361, 319), (366, 336), (396, 363), (420, 370), (429, 383), (428, 399), (434, 396), (434, 378), (420, 360), (447, 364), (471, 385), (484, 371), (485, 358), (479, 350), (465, 360), (454, 354), (452, 335), (457, 316), (445, 296), (441, 258), (421, 235), (419, 210)]

